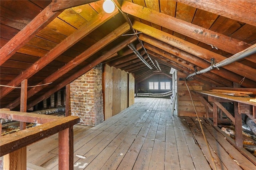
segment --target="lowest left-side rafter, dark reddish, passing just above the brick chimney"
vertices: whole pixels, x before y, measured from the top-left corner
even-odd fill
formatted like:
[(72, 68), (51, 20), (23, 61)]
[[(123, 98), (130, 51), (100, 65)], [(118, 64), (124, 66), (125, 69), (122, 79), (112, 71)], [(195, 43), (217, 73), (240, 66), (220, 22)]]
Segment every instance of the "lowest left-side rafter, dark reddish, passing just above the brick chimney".
[(92, 61), (92, 63), (89, 63), (88, 65), (85, 65), (82, 69), (80, 69), (79, 71), (77, 71), (76, 73), (74, 73), (72, 76), (68, 77), (67, 79), (65, 79), (64, 81), (58, 83), (58, 85), (56, 85), (53, 89), (47, 91), (44, 95), (38, 97), (36, 100), (32, 101), (32, 103), (28, 104), (28, 108), (33, 107), (34, 105), (36, 105), (37, 103), (39, 103), (40, 101), (46, 99), (47, 97), (49, 97), (50, 95), (52, 95), (53, 93), (55, 93), (56, 91), (62, 89), (64, 86), (66, 86), (68, 83), (71, 83), (72, 81), (74, 81), (75, 79), (77, 79), (78, 77), (80, 77), (81, 75), (85, 74), (87, 71), (89, 71), (90, 69), (92, 69), (93, 67), (95, 67), (96, 65), (98, 65), (99, 63), (102, 63), (105, 59), (107, 59), (110, 55), (112, 55), (113, 53), (116, 53), (118, 51), (120, 51), (121, 49), (123, 49), (124, 47), (126, 47), (129, 43), (132, 43), (136, 40), (135, 36), (132, 36), (126, 40), (124, 40), (122, 43), (116, 45), (115, 47), (113, 47), (112, 49), (108, 50), (104, 55), (96, 58), (94, 61)]

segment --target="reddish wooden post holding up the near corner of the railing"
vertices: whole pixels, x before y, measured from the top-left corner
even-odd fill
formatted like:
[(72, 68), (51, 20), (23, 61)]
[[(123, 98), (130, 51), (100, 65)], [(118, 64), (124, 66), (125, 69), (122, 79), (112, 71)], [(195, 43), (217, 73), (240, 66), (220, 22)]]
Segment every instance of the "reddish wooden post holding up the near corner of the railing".
[(59, 132), (59, 170), (74, 169), (73, 127)]

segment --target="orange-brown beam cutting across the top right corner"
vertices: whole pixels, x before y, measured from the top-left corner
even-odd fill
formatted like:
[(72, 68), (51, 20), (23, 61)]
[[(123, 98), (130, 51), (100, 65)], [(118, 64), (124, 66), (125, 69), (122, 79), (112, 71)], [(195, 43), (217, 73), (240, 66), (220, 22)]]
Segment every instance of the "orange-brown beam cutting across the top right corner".
[(254, 0), (238, 0), (238, 1), (224, 1), (224, 0), (176, 0), (183, 4), (193, 6), (205, 11), (212, 12), (230, 18), (238, 20), (246, 24), (256, 26), (256, 4)]

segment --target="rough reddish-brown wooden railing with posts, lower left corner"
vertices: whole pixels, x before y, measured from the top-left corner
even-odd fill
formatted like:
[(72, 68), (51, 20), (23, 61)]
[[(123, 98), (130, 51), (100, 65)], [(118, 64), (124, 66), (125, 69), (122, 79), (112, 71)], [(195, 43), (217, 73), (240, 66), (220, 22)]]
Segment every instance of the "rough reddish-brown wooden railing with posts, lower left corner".
[[(0, 137), (0, 156), (4, 156), (4, 169), (26, 170), (26, 146), (52, 134), (59, 136), (59, 169), (73, 170), (73, 125), (79, 117), (58, 117), (0, 109), (0, 119), (42, 124)], [(0, 125), (0, 130), (2, 126)]]

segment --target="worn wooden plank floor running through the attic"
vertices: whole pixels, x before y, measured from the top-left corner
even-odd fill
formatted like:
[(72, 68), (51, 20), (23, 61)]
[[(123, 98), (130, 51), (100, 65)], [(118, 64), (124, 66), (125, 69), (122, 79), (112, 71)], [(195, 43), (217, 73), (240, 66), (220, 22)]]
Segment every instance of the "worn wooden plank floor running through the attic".
[[(75, 125), (74, 169), (210, 170), (196, 119), (172, 117), (171, 108), (170, 99), (136, 98), (96, 127)], [(207, 123), (204, 128), (218, 169), (256, 169), (214, 128)], [(57, 170), (58, 136), (28, 146), (27, 154), (28, 163)]]

